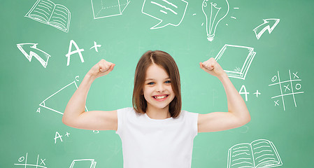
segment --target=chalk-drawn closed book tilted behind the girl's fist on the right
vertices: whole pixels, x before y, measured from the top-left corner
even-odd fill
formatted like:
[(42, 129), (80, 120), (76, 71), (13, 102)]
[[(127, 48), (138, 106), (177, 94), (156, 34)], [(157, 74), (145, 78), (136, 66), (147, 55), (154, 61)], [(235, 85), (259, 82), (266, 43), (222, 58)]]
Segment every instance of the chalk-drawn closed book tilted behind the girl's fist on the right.
[(225, 44), (215, 59), (229, 77), (245, 80), (255, 54), (254, 48)]

